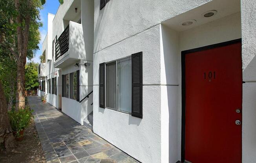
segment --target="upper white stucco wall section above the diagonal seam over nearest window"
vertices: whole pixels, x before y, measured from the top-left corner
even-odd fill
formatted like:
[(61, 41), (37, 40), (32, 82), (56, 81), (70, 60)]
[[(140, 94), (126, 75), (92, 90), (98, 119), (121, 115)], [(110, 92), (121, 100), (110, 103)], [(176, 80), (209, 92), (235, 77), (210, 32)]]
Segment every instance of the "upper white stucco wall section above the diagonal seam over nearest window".
[(211, 0), (94, 0), (94, 53)]

